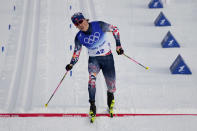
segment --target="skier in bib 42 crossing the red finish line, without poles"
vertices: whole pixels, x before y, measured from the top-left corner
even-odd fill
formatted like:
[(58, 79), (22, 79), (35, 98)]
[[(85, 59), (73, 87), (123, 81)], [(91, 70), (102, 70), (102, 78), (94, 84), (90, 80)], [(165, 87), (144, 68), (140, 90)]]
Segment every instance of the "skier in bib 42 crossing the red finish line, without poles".
[(82, 45), (88, 49), (88, 92), (90, 102), (91, 122), (96, 116), (95, 93), (96, 93), (96, 76), (102, 70), (107, 85), (107, 104), (110, 116), (113, 117), (114, 92), (116, 91), (116, 76), (114, 59), (110, 49), (110, 43), (106, 39), (106, 32), (112, 32), (116, 41), (116, 51), (118, 55), (122, 55), (124, 50), (121, 47), (120, 35), (118, 28), (102, 21), (89, 22), (85, 19), (81, 12), (75, 13), (71, 20), (79, 29), (75, 37), (75, 48), (70, 64), (66, 66), (66, 70), (70, 71), (77, 63), (82, 49)]

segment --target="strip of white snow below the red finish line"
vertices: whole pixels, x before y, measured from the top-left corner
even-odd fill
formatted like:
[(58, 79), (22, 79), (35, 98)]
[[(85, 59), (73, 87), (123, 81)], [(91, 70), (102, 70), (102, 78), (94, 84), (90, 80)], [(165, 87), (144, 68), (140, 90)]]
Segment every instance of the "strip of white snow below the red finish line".
[(5, 118), (0, 121), (2, 131), (195, 131), (196, 117), (124, 117), (97, 118)]

